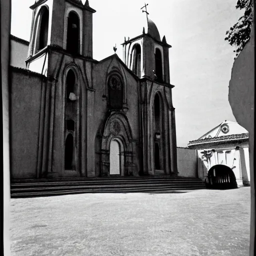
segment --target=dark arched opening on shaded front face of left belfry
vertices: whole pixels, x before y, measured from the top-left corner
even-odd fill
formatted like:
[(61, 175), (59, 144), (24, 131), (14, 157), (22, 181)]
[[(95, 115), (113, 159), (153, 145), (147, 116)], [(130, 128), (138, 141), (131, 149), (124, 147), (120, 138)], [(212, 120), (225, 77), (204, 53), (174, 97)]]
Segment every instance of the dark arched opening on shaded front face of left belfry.
[(67, 17), (66, 49), (71, 53), (79, 52), (79, 17), (74, 11)]

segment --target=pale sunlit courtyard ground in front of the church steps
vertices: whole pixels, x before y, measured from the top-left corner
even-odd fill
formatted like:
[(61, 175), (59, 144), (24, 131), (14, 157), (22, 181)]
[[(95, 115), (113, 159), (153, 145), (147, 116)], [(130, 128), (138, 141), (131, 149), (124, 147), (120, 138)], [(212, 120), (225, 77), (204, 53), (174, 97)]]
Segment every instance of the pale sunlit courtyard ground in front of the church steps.
[(11, 255), (245, 256), (250, 188), (11, 199)]

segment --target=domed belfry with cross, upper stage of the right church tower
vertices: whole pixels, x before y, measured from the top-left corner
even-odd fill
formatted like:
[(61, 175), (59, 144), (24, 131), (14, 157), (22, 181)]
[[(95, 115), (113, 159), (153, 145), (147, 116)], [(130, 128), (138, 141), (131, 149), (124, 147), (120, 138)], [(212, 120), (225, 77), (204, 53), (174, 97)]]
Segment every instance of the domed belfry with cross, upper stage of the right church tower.
[[(165, 36), (162, 40), (155, 23), (148, 18), (145, 4), (142, 10), (146, 14), (146, 31), (142, 34), (124, 38), (123, 61), (139, 78), (147, 77), (160, 83), (169, 83), (169, 54), (171, 45), (167, 44)], [(141, 9), (142, 9), (141, 8)]]

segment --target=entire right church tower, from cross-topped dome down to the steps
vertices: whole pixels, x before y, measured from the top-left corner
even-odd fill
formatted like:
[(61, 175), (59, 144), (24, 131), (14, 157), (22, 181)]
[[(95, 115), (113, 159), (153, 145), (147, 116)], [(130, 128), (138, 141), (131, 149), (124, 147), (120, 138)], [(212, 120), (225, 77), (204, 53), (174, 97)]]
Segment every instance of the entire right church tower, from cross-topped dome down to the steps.
[(142, 34), (124, 38), (123, 61), (140, 78), (143, 173), (177, 175), (175, 111), (169, 76), (169, 45), (148, 18)]

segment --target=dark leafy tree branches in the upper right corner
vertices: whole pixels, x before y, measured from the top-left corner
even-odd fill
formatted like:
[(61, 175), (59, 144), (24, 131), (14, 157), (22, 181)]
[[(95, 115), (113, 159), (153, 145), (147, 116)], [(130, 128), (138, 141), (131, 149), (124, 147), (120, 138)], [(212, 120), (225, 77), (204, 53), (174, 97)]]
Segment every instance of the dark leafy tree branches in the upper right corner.
[(238, 56), (240, 51), (243, 49), (244, 45), (250, 38), (250, 28), (252, 23), (252, 9), (254, 0), (237, 0), (236, 8), (244, 9), (244, 14), (238, 19), (233, 26), (226, 31), (225, 40), (236, 49), (235, 57)]

